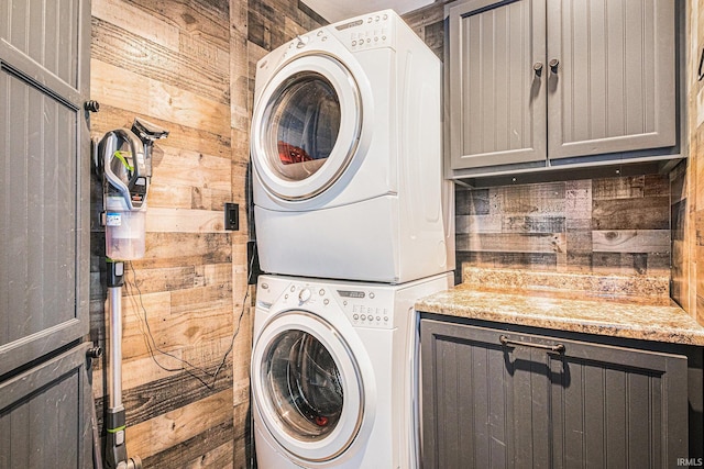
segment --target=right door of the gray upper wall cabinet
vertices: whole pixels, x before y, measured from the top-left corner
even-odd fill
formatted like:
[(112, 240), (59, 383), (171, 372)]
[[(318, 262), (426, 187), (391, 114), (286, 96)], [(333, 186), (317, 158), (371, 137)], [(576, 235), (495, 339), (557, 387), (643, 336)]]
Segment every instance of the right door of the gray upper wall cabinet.
[(551, 159), (675, 144), (675, 3), (548, 0)]

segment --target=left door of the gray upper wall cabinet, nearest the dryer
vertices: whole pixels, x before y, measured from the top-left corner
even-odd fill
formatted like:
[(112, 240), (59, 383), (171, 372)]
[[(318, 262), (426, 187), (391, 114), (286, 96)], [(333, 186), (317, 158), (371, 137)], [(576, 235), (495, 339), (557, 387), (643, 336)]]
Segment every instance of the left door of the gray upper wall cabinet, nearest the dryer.
[(544, 0), (449, 8), (452, 169), (546, 159), (544, 8)]

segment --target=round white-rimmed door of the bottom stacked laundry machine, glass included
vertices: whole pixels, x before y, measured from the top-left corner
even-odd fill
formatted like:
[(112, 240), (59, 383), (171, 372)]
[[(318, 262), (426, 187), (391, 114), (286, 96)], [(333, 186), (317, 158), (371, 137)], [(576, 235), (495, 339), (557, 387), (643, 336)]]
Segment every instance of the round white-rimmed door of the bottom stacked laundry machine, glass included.
[(354, 356), (311, 313), (287, 312), (264, 327), (252, 354), (252, 394), (270, 434), (304, 461), (341, 455), (362, 424), (364, 392)]

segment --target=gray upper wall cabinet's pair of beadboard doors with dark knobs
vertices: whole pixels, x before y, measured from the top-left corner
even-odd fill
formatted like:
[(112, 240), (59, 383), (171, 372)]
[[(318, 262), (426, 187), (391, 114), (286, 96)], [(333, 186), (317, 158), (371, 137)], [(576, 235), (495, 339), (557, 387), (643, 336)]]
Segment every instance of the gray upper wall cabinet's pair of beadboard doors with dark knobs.
[(450, 170), (676, 145), (675, 2), (466, 0), (447, 16)]

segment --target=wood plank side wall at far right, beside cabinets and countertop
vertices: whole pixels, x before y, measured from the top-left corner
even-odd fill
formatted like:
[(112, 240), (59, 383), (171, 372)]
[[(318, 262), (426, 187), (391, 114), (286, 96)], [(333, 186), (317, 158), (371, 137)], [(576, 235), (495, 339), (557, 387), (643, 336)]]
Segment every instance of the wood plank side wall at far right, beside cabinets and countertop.
[(672, 298), (704, 325), (704, 1), (688, 2), (685, 98), (689, 158), (670, 175), (672, 192)]

